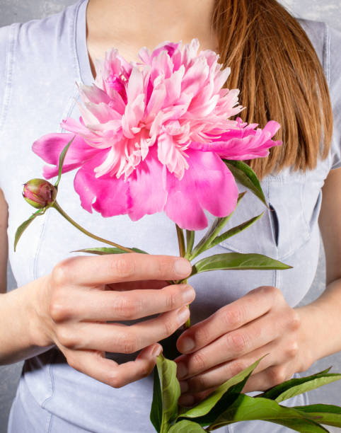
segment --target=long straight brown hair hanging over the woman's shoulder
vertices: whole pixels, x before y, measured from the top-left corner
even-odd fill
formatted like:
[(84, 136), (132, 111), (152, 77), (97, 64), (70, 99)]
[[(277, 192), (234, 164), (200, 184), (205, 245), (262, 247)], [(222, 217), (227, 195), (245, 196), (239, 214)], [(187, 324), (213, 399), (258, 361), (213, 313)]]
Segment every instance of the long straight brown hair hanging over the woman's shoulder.
[(220, 59), (240, 88), (241, 117), (264, 126), (277, 120), (282, 146), (248, 161), (260, 178), (285, 166), (316, 167), (328, 155), (333, 112), (318, 56), (303, 28), (275, 0), (216, 0), (212, 30)]

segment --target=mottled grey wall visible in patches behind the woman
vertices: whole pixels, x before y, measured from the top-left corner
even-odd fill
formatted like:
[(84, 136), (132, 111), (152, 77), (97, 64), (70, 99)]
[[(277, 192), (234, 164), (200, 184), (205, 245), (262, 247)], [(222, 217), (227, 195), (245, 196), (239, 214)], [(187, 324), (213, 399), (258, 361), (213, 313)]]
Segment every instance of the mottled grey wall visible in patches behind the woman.
[[(74, 4), (75, 0), (0, 0), (0, 27), (14, 22), (25, 22), (33, 18), (43, 18), (57, 13), (65, 6)], [(325, 21), (334, 28), (341, 30), (341, 0), (282, 0), (289, 11), (300, 18), (309, 18), (317, 21)], [(341, 47), (340, 47), (341, 48)], [(16, 287), (16, 282), (8, 267), (8, 288)], [(320, 265), (313, 287), (302, 301), (308, 304), (316, 299), (325, 287), (325, 270), (323, 250), (320, 251)], [(339, 331), (340, 332), (340, 331)], [(341, 371), (340, 353), (320, 359), (313, 364), (307, 374), (333, 366), (333, 371)], [(6, 433), (8, 412), (16, 392), (16, 384), (21, 373), (22, 363), (9, 366), (0, 366), (0, 433)], [(313, 403), (341, 404), (341, 384), (332, 383), (328, 386), (311, 392)], [(340, 431), (329, 427), (330, 432)]]

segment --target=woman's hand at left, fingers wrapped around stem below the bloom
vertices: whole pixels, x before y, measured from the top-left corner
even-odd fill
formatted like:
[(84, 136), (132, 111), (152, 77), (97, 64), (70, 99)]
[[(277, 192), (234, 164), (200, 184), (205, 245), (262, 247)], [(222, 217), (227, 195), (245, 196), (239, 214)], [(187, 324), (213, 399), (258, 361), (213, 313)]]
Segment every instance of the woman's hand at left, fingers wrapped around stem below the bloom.
[[(190, 275), (188, 260), (167, 255), (120, 254), (64, 260), (43, 277), (36, 306), (37, 345), (56, 344), (69, 365), (115, 388), (154, 368), (162, 347), (189, 316), (195, 299), (188, 284), (165, 280)], [(128, 321), (161, 313), (134, 325)], [(105, 352), (133, 353), (118, 365)]]

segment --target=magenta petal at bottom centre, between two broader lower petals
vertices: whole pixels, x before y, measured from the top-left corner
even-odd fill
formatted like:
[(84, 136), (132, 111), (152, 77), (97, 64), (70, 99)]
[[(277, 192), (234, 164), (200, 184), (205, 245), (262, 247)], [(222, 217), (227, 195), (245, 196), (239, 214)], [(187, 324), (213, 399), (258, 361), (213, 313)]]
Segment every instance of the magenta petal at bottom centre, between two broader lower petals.
[(129, 217), (137, 221), (146, 214), (162, 212), (166, 204), (166, 167), (157, 159), (156, 146), (129, 176)]

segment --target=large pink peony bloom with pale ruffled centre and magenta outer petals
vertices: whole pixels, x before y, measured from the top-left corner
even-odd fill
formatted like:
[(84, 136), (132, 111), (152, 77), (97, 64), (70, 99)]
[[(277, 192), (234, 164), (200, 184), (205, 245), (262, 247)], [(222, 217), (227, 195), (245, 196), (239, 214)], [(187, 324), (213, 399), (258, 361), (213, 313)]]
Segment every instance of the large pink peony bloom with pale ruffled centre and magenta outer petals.
[(200, 51), (199, 41), (163, 42), (141, 62), (125, 61), (109, 50), (96, 61), (96, 82), (79, 85), (79, 122), (67, 118), (70, 133), (46, 134), (33, 151), (54, 167), (74, 135), (63, 171), (79, 168), (74, 187), (81, 205), (103, 217), (166, 212), (183, 229), (207, 226), (204, 209), (225, 217), (236, 206), (238, 189), (221, 158), (267, 156), (279, 129), (264, 129), (231, 120), (243, 109), (238, 89), (221, 88), (230, 69), (222, 69), (219, 54)]

